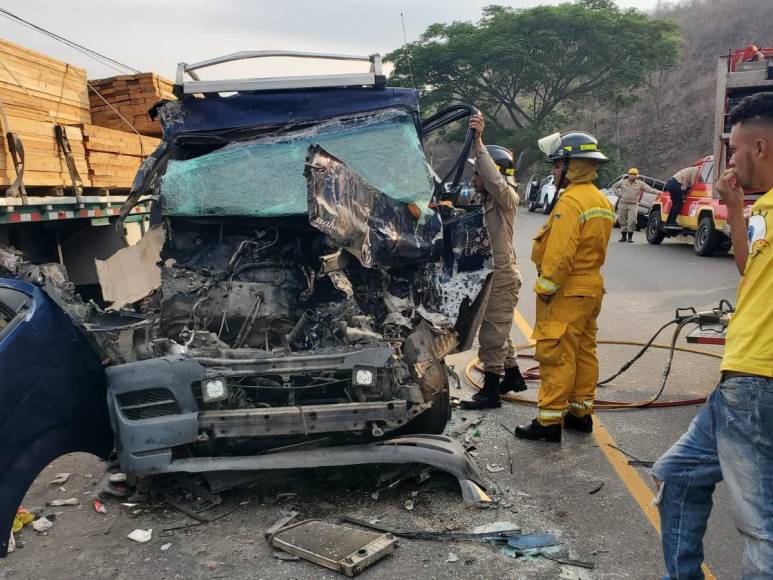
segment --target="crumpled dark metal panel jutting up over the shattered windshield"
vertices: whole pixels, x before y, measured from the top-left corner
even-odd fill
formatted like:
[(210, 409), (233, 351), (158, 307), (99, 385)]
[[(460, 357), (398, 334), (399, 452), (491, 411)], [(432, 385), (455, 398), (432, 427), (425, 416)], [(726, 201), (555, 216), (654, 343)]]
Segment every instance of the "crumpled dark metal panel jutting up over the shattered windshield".
[(422, 209), (431, 191), (424, 199), (402, 201), (377, 189), (318, 145), (309, 147), (306, 177), (309, 222), (363, 266), (439, 259), (443, 243), (440, 214)]

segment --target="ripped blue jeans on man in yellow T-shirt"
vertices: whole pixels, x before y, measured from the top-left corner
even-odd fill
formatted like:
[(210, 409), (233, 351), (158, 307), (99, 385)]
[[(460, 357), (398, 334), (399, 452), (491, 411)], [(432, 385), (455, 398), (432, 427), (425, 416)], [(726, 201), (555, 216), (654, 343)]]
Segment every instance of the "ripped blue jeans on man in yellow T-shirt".
[(773, 578), (773, 379), (721, 382), (652, 475), (670, 578), (704, 577), (703, 534), (723, 479), (744, 539), (742, 577)]

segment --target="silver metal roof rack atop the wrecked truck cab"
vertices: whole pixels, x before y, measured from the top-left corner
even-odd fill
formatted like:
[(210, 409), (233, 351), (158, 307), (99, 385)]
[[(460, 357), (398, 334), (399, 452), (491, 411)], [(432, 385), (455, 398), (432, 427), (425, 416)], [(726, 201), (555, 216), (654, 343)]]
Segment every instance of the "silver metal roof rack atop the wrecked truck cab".
[[(254, 58), (305, 58), (321, 60), (347, 60), (370, 62), (370, 71), (367, 73), (350, 73), (334, 75), (309, 75), (309, 76), (288, 76), (288, 77), (264, 77), (250, 79), (229, 79), (203, 81), (199, 78), (196, 71), (237, 60), (246, 60)], [(191, 79), (185, 81), (185, 75)], [(383, 87), (386, 85), (386, 77), (381, 68), (381, 55), (371, 54), (369, 56), (356, 56), (346, 54), (327, 54), (317, 52), (295, 52), (286, 50), (258, 50), (241, 51), (227, 54), (225, 56), (204, 60), (194, 64), (181, 62), (177, 65), (177, 77), (175, 79), (176, 89), (181, 95), (192, 95), (197, 93), (230, 93), (230, 92), (251, 92), (251, 91), (278, 91), (287, 89), (317, 89), (326, 87)], [(178, 96), (181, 96), (178, 95)]]

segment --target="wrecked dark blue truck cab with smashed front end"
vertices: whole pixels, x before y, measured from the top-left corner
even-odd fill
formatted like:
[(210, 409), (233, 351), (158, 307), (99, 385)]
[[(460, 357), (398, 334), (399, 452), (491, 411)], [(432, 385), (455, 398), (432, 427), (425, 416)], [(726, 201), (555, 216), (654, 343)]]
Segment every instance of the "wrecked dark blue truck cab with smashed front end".
[(491, 273), (483, 208), (441, 203), (471, 136), (438, 178), (422, 138), (443, 116), (423, 125), (370, 61), (286, 86), (180, 74), (154, 109), (162, 144), (124, 209), (156, 201), (156, 308), (106, 369), (131, 477), (442, 433), (444, 357), (470, 347)]

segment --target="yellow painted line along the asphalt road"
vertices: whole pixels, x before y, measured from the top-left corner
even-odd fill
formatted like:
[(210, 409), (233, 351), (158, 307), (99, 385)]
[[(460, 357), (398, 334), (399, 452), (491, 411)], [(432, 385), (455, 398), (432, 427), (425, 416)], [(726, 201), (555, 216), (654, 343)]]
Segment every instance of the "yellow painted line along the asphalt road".
[[(531, 326), (529, 326), (529, 323), (526, 322), (526, 319), (523, 317), (523, 314), (521, 314), (520, 311), (515, 311), (513, 322), (518, 327), (518, 330), (521, 331), (521, 334), (523, 334), (524, 338), (528, 340), (530, 344), (533, 344), (534, 341), (531, 338)], [(607, 461), (609, 461), (610, 465), (612, 465), (612, 468), (617, 473), (617, 476), (625, 484), (625, 487), (628, 488), (628, 492), (636, 500), (636, 503), (639, 504), (641, 511), (644, 512), (644, 515), (647, 516), (647, 519), (650, 521), (652, 526), (658, 531), (658, 533), (660, 533), (660, 514), (658, 513), (658, 509), (652, 505), (652, 500), (655, 495), (652, 493), (652, 490), (649, 488), (649, 486), (644, 483), (644, 480), (639, 475), (639, 472), (628, 465), (628, 459), (622, 453), (619, 453), (610, 447), (610, 445), (614, 445), (615, 447), (618, 445), (612, 438), (612, 435), (610, 435), (609, 431), (607, 431), (606, 427), (601, 424), (601, 420), (599, 419), (598, 415), (595, 415), (595, 421), (593, 425), (593, 439), (604, 452), (604, 456), (607, 458)], [(706, 580), (716, 580), (716, 576), (712, 574), (711, 570), (706, 564), (703, 564), (701, 567), (703, 569), (704, 575), (706, 576)]]

